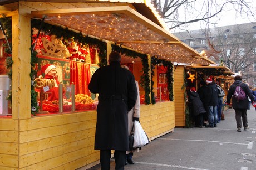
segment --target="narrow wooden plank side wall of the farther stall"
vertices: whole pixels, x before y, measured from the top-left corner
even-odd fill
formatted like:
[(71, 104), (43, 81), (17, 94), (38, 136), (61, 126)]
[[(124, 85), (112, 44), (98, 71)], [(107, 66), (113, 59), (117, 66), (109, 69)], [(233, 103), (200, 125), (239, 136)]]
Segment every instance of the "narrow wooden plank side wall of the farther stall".
[(184, 66), (177, 66), (174, 71), (174, 101), (175, 101), (175, 126), (185, 127), (185, 106), (184, 106)]

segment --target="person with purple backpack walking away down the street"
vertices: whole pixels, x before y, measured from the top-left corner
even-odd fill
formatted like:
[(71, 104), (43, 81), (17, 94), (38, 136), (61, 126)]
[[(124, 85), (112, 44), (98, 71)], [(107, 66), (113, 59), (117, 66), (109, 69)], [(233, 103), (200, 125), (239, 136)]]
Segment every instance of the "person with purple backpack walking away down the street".
[[(235, 76), (234, 83), (229, 87), (227, 95), (227, 104), (230, 105), (232, 97), (232, 107), (235, 110), (235, 120), (237, 121), (237, 131), (241, 132), (242, 121), (244, 130), (248, 130), (247, 121), (247, 109), (248, 109), (248, 97), (252, 100), (254, 105), (255, 99), (249, 86), (242, 82), (243, 77), (241, 75)], [(241, 120), (242, 117), (242, 120)]]

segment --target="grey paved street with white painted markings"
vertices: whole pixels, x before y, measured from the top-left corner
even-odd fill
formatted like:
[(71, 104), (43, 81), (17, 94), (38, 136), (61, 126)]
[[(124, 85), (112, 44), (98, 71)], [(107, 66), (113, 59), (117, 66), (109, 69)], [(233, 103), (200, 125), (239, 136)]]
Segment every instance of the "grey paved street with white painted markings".
[[(256, 169), (256, 111), (248, 110), (249, 130), (237, 132), (233, 109), (215, 128), (175, 128), (134, 154), (125, 169)], [(100, 164), (90, 170), (100, 169)], [(111, 170), (115, 161), (111, 159)], [(80, 168), (80, 170), (84, 170)]]

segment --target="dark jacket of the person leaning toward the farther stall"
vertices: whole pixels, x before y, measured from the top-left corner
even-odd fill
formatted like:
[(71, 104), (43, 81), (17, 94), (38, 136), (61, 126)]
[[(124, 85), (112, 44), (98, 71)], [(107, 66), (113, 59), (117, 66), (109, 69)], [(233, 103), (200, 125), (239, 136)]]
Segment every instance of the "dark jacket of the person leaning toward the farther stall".
[(199, 94), (196, 91), (189, 91), (189, 102), (192, 104), (193, 114), (197, 116), (205, 113), (203, 102), (200, 100)]

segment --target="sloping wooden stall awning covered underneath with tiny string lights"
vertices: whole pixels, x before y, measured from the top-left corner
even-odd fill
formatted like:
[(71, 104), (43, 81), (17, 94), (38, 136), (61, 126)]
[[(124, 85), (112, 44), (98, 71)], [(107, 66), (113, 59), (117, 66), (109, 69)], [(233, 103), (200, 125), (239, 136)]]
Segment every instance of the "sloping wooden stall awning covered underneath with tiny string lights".
[(62, 25), (159, 59), (201, 65), (215, 64), (168, 30), (128, 6), (33, 11), (32, 16)]

